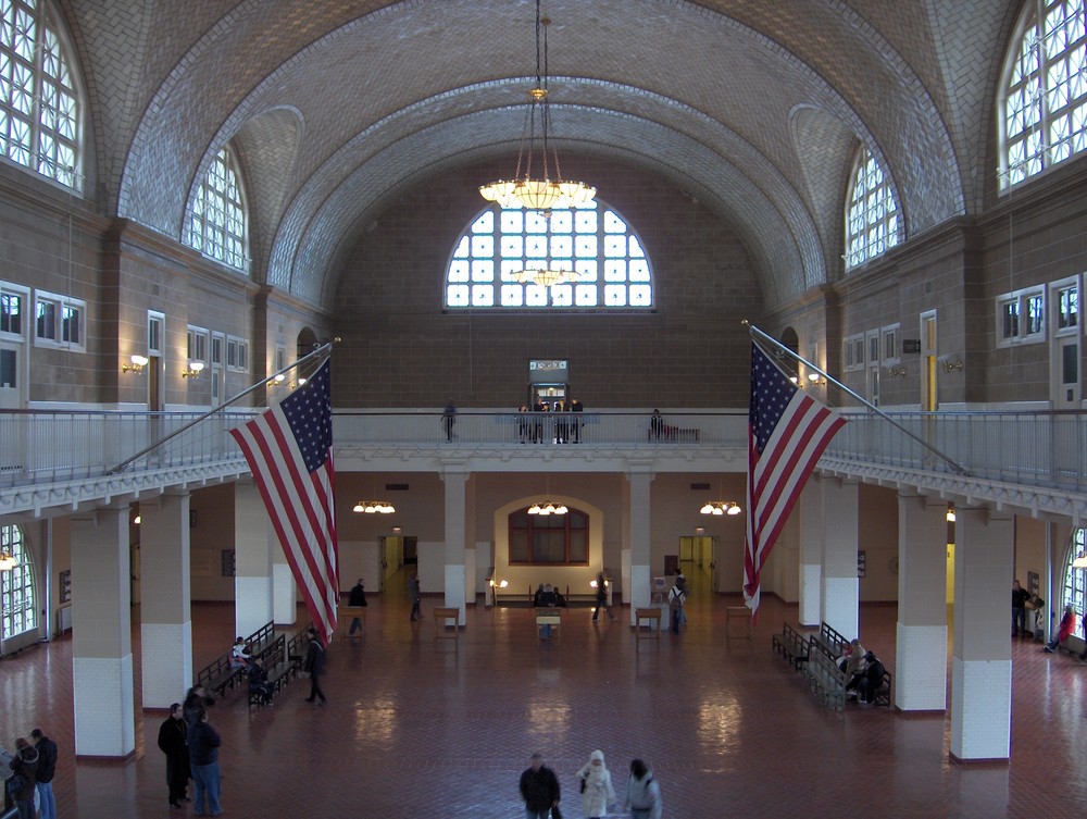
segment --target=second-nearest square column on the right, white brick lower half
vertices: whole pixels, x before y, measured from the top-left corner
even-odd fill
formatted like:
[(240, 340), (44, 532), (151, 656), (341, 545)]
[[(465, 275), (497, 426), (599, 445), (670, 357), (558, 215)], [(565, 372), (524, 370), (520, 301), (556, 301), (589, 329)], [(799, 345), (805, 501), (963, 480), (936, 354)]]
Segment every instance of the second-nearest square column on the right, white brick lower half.
[(947, 502), (898, 496), (898, 633), (895, 705), (947, 708)]

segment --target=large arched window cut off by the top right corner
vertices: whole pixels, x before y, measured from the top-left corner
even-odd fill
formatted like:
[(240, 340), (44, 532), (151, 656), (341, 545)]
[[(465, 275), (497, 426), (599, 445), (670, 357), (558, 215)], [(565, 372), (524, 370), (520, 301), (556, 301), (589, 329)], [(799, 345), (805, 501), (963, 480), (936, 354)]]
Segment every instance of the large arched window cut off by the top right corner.
[(1000, 189), (1087, 147), (1084, 0), (1032, 0), (997, 96)]

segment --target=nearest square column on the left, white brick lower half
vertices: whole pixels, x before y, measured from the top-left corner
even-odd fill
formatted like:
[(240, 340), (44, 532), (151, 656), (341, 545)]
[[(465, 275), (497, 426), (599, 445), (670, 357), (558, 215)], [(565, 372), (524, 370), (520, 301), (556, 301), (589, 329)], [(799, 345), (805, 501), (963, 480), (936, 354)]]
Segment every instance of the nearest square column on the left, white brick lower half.
[(72, 518), (72, 688), (77, 756), (136, 749), (128, 507)]

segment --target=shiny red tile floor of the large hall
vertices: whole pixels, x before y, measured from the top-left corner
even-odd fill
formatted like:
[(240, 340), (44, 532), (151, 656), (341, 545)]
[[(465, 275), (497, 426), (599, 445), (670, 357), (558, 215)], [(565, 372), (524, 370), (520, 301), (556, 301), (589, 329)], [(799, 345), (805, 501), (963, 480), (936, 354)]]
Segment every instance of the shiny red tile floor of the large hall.
[[(250, 711), (239, 690), (212, 709), (224, 816), (516, 819), (517, 778), (540, 750), (576, 819), (574, 772), (594, 748), (621, 794), (629, 760), (649, 761), (669, 819), (1087, 810), (1087, 666), (1077, 659), (1015, 641), (1011, 760), (955, 765), (944, 713), (821, 705), (771, 650), (782, 621), (797, 622), (796, 606), (765, 600), (753, 640), (729, 643), (725, 608), (738, 599), (699, 593), (705, 579), (690, 574), (700, 581), (690, 624), (659, 643), (636, 641), (626, 611), (592, 623), (589, 609), (573, 608), (558, 637), (541, 643), (528, 609), (483, 606), (468, 610), (459, 640), (436, 640), (438, 598), (425, 598), (428, 619), (411, 625), (401, 593), (371, 596), (365, 640), (329, 650), (326, 707), (304, 703), (308, 682), (296, 680), (274, 707)], [(861, 610), (861, 637), (888, 668), (895, 618), (894, 606)], [(195, 605), (192, 620), (199, 667), (230, 645), (234, 611)], [(138, 637), (137, 622), (137, 692)], [(137, 703), (130, 760), (73, 759), (71, 645), (62, 638), (0, 661), (0, 742), (10, 747), (36, 725), (57, 740), (64, 819), (188, 816), (190, 807), (166, 805), (162, 711)]]

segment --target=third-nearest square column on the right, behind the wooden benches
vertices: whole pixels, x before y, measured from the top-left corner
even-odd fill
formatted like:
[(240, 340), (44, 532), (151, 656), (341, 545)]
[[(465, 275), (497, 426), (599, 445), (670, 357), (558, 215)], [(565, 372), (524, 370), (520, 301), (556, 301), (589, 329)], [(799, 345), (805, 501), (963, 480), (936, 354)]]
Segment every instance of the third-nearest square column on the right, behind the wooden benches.
[(823, 543), (823, 599), (820, 619), (847, 640), (859, 636), (857, 497), (855, 481), (823, 481), (823, 529), (826, 537)]

